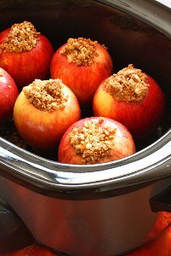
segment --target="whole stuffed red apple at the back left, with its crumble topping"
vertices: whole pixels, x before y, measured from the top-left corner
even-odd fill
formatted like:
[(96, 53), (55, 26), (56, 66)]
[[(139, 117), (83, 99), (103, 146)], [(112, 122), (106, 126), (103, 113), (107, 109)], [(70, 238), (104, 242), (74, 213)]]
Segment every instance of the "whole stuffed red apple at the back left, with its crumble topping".
[(14, 24), (0, 33), (0, 67), (14, 78), (19, 89), (34, 79), (46, 79), (53, 55), (52, 44), (31, 22)]

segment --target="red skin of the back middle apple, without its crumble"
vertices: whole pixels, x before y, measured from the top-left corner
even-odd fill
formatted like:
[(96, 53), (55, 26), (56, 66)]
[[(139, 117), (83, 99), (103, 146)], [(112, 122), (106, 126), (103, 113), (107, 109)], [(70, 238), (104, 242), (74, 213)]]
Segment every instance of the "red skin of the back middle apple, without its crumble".
[(95, 46), (99, 56), (96, 56), (91, 66), (77, 66), (75, 63), (69, 63), (67, 56), (60, 53), (65, 47), (62, 45), (58, 49), (51, 62), (50, 73), (52, 79), (62, 79), (77, 96), (81, 105), (88, 105), (92, 102), (94, 92), (100, 83), (111, 76), (113, 64), (111, 56), (107, 50), (100, 44)]

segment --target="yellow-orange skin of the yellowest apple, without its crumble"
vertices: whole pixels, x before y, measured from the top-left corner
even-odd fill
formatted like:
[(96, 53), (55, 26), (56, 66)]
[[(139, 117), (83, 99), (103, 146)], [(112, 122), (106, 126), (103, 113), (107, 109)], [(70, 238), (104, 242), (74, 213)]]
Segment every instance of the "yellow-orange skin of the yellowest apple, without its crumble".
[(20, 136), (33, 148), (55, 148), (66, 129), (81, 119), (81, 110), (77, 97), (64, 85), (64, 94), (68, 96), (66, 107), (54, 112), (35, 108), (20, 92), (14, 104), (14, 125)]

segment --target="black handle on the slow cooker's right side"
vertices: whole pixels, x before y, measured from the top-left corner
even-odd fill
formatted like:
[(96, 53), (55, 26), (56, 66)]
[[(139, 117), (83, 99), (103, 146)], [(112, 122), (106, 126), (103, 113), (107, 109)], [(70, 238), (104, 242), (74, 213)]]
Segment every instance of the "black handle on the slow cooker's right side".
[(152, 212), (171, 212), (171, 186), (150, 199)]

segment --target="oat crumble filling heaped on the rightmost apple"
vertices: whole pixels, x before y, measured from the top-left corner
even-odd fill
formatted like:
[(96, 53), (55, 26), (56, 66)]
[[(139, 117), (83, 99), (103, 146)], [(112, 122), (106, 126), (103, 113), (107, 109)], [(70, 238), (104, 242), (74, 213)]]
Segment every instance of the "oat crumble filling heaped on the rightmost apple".
[(105, 88), (117, 102), (142, 102), (149, 84), (147, 76), (132, 64), (107, 79)]

